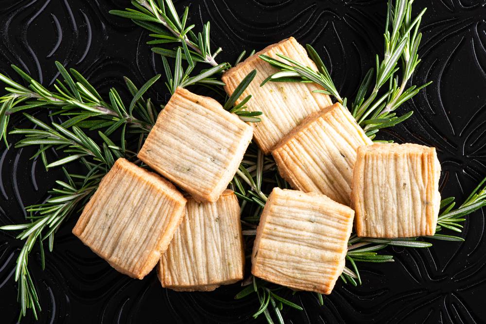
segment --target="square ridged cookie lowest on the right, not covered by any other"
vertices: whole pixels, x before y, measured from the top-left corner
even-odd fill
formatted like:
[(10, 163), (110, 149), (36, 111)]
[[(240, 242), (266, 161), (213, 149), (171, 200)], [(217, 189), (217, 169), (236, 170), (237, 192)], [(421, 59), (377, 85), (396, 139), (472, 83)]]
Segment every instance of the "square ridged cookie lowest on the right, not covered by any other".
[(354, 211), (319, 193), (274, 188), (253, 246), (253, 275), (329, 294), (343, 272)]

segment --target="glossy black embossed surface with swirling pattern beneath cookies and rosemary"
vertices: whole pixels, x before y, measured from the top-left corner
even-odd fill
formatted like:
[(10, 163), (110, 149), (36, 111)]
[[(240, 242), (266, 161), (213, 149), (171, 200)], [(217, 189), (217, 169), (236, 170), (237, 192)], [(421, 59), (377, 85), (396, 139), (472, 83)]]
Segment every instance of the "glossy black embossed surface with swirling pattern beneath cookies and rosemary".
[[(293, 35), (312, 43), (325, 58), (344, 96), (356, 91), (364, 71), (382, 52), (384, 0), (194, 0), (194, 23), (211, 21), (219, 61), (233, 62), (243, 50)], [(148, 33), (108, 10), (128, 6), (115, 0), (2, 0), (0, 71), (14, 76), (14, 63), (50, 85), (59, 60), (89, 77), (106, 93), (122, 88), (126, 75), (138, 85), (156, 71), (160, 58), (145, 42)], [(443, 196), (465, 198), (486, 174), (486, 2), (420, 0), (422, 64), (414, 82), (434, 81), (413, 102), (415, 114), (383, 133), (398, 142), (436, 146), (442, 164)], [(16, 77), (18, 80), (18, 78)], [(168, 97), (159, 82), (152, 98)], [(16, 124), (24, 121), (17, 119)], [(11, 142), (17, 138), (10, 137)], [(41, 202), (59, 172), (47, 174), (32, 151), (0, 146), (0, 224), (22, 222), (23, 206)], [(238, 284), (210, 293), (164, 290), (154, 273), (139, 281), (117, 273), (70, 231), (74, 215), (56, 236), (41, 271), (35, 251), (30, 267), (40, 291), (39, 323), (248, 323), (257, 305), (234, 301)], [(434, 242), (428, 250), (390, 249), (395, 263), (362, 265), (363, 286), (338, 283), (323, 307), (308, 293), (292, 298), (305, 310), (285, 311), (286, 323), (482, 323), (486, 322), (486, 242), (483, 212), (465, 223), (464, 243)], [(1, 323), (18, 315), (13, 269), (20, 241), (0, 232)], [(260, 322), (263, 319), (260, 318)], [(25, 319), (30, 323), (32, 318)]]

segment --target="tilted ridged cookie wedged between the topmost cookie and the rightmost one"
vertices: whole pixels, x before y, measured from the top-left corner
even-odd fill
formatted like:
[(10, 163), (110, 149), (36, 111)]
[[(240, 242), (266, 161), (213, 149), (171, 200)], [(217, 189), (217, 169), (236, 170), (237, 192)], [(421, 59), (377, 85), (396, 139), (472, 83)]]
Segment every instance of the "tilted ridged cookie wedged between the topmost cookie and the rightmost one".
[(272, 151), (292, 188), (349, 205), (356, 150), (372, 141), (341, 104), (312, 114)]

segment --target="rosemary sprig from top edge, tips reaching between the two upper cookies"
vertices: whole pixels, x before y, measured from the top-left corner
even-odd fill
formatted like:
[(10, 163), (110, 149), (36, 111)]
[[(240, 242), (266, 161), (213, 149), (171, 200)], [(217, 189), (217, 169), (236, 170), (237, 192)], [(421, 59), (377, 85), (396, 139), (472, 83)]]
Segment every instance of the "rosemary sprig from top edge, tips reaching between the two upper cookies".
[[(172, 0), (136, 0), (131, 1), (136, 9), (127, 8), (125, 11), (111, 10), (110, 13), (116, 16), (132, 19), (133, 22), (139, 26), (155, 33), (150, 34), (156, 38), (148, 42), (149, 45), (178, 43), (174, 49), (166, 49), (154, 47), (152, 51), (161, 54), (162, 63), (165, 70), (166, 86), (171, 93), (175, 92), (177, 86), (186, 87), (188, 85), (198, 84), (206, 86), (216, 93), (225, 97), (222, 86), (225, 85), (219, 79), (213, 77), (228, 68), (229, 63), (217, 64), (214, 58), (221, 52), (221, 48), (211, 53), (210, 38), (209, 38), (209, 22), (204, 24), (202, 33), (197, 35), (192, 32), (194, 25), (186, 27), (189, 8), (184, 8), (182, 15), (177, 14)], [(161, 25), (161, 26), (160, 26)], [(253, 55), (252, 51), (250, 55)], [(236, 64), (240, 62), (245, 56), (246, 51), (243, 51), (238, 57)], [(174, 72), (170, 67), (167, 58), (174, 58)], [(188, 67), (182, 67), (182, 60), (188, 62)], [(208, 63), (213, 66), (206, 70), (202, 70), (199, 75), (191, 77), (191, 72), (195, 68), (197, 62)], [(247, 75), (238, 88), (234, 91), (230, 98), (227, 98), (225, 109), (238, 115), (240, 119), (247, 122), (258, 122), (261, 119), (261, 112), (245, 111), (245, 104), (251, 98), (248, 96), (239, 104), (235, 105), (236, 100), (240, 97), (244, 89), (255, 77), (256, 70)]]

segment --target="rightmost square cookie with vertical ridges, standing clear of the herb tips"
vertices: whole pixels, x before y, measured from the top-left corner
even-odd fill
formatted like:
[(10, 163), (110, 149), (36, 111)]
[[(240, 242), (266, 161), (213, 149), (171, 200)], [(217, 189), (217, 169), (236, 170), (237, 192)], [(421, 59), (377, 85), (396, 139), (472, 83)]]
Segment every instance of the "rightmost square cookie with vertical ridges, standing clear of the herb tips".
[(439, 177), (433, 147), (387, 143), (358, 148), (351, 195), (358, 236), (434, 235)]

